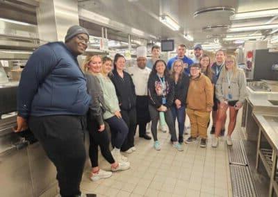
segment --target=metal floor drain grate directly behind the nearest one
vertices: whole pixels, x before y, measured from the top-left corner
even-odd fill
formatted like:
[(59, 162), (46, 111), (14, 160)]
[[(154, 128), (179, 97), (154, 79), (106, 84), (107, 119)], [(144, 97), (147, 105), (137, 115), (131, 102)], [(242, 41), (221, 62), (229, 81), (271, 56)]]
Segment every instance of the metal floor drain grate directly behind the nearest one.
[(241, 140), (233, 140), (233, 146), (229, 146), (228, 151), (230, 164), (248, 165), (245, 149)]

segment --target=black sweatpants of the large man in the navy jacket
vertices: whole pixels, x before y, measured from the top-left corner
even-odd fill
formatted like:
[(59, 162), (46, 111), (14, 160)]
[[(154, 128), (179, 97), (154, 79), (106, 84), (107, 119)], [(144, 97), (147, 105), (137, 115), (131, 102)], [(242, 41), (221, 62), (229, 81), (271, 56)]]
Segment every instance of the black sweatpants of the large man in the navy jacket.
[(28, 126), (56, 166), (60, 195), (80, 195), (79, 185), (86, 158), (85, 117), (29, 117)]

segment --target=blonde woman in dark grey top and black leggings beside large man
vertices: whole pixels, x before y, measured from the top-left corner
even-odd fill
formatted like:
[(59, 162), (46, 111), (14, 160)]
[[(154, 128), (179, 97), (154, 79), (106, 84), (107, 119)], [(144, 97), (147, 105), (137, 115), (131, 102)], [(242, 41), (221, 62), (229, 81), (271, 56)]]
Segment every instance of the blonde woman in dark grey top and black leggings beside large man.
[[(95, 76), (101, 71), (101, 58), (98, 55), (88, 56), (84, 63), (85, 77), (87, 79), (88, 93), (92, 96), (88, 111), (88, 130), (90, 135), (89, 156), (92, 163), (90, 178), (92, 181), (101, 178), (108, 178), (112, 175), (111, 171), (129, 169), (129, 162), (116, 162), (109, 150), (108, 131), (103, 118), (104, 95), (101, 90), (98, 78)], [(98, 146), (101, 155), (111, 164), (111, 171), (99, 169)]]

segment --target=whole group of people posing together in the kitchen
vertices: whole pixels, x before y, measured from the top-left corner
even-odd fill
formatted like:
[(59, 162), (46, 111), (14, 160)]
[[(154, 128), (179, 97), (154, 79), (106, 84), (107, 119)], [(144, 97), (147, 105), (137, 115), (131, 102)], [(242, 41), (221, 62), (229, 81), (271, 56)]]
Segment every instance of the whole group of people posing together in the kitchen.
[[(77, 56), (85, 51), (88, 42), (85, 28), (70, 27), (65, 43), (51, 42), (34, 51), (19, 83), (15, 131), (30, 128), (42, 144), (56, 166), (61, 196), (81, 196), (85, 130), (90, 137), (93, 181), (110, 177), (111, 171), (129, 169), (128, 158), (121, 151), (136, 151), (137, 126), (139, 137), (153, 138), (154, 149), (159, 151), (157, 125), (158, 121), (166, 123), (172, 146), (183, 151), (186, 113), (191, 132), (185, 142), (200, 137), (200, 146), (206, 147), (213, 111), (212, 146), (217, 147), (229, 108), (227, 144), (232, 145), (236, 115), (246, 96), (245, 74), (238, 69), (233, 55), (225, 55), (220, 49), (211, 65), (209, 56), (202, 53), (202, 45), (195, 46), (195, 58), (191, 60), (185, 55), (186, 46), (180, 44), (177, 56), (166, 63), (159, 59), (159, 46), (152, 47), (150, 60), (145, 46), (140, 46), (134, 67), (125, 68), (126, 60), (120, 54), (113, 60), (88, 55), (81, 69)], [(146, 132), (149, 121), (152, 137)], [(111, 164), (111, 171), (99, 168), (98, 147)]]

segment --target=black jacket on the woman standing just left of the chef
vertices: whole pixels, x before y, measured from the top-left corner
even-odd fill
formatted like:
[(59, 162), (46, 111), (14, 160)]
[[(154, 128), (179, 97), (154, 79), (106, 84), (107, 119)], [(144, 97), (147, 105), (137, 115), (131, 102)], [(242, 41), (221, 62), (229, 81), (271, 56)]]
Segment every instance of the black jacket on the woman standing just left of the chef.
[(136, 107), (135, 86), (131, 76), (124, 71), (124, 78), (122, 78), (117, 71), (113, 70), (111, 80), (115, 85), (117, 99), (121, 110), (131, 110)]

